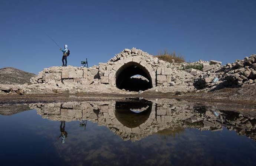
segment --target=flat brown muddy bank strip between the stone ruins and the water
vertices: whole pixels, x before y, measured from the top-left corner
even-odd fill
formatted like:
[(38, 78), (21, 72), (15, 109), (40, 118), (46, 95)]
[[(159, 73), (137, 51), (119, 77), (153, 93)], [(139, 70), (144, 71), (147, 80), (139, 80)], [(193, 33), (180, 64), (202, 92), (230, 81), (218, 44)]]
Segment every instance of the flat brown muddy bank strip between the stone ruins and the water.
[(127, 97), (143, 97), (150, 100), (160, 99), (184, 99), (198, 103), (237, 103), (255, 104), (256, 86), (243, 86), (241, 88), (225, 88), (216, 91), (200, 91), (190, 93), (145, 91), (137, 94), (116, 93), (76, 93), (76, 94), (24, 94), (1, 95), (0, 104), (12, 103), (36, 103), (59, 101), (111, 101), (126, 100)]

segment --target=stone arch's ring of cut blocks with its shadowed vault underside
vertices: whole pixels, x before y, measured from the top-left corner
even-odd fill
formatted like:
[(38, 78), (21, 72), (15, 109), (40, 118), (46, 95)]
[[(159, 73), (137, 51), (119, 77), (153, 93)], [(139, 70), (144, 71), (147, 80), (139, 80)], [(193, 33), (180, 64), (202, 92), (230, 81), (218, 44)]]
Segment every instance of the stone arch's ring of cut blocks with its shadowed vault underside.
[(109, 73), (109, 84), (118, 87), (125, 77), (134, 75), (144, 76), (150, 81), (150, 87), (155, 87), (156, 76), (154, 69), (138, 57), (119, 60)]

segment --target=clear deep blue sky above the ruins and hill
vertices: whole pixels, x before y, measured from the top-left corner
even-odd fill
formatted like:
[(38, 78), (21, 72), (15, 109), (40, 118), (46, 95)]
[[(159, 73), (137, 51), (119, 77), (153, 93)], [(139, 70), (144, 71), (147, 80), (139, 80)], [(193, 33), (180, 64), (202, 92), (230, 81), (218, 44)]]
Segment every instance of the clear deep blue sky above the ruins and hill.
[(234, 62), (256, 53), (256, 0), (1, 0), (0, 68), (106, 62), (124, 48)]

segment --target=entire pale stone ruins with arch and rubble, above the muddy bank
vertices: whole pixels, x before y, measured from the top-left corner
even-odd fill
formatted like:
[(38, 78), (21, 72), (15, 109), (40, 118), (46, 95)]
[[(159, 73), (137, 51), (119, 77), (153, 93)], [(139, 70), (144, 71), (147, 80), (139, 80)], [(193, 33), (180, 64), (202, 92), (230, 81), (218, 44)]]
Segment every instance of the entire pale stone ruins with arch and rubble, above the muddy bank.
[[(185, 66), (201, 65), (202, 70)], [(214, 79), (217, 79), (214, 81)], [(169, 63), (140, 49), (124, 49), (106, 63), (90, 68), (50, 67), (32, 77), (31, 84), (0, 84), (0, 94), (121, 93), (151, 89), (187, 93), (224, 87), (256, 85), (256, 55), (226, 65), (216, 60)], [(178, 94), (177, 93), (177, 94)]]

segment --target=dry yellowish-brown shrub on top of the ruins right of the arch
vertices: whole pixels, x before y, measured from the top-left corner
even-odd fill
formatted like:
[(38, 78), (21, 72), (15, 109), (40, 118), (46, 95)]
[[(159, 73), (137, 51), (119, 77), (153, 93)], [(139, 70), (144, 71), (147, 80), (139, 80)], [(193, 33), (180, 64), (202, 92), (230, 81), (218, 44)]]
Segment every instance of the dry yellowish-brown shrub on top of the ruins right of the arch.
[(178, 54), (176, 55), (175, 51), (173, 53), (169, 53), (168, 51), (160, 51), (155, 57), (157, 57), (160, 60), (164, 60), (166, 62), (172, 63), (174, 59), (174, 62), (185, 62), (185, 58), (183, 55)]

